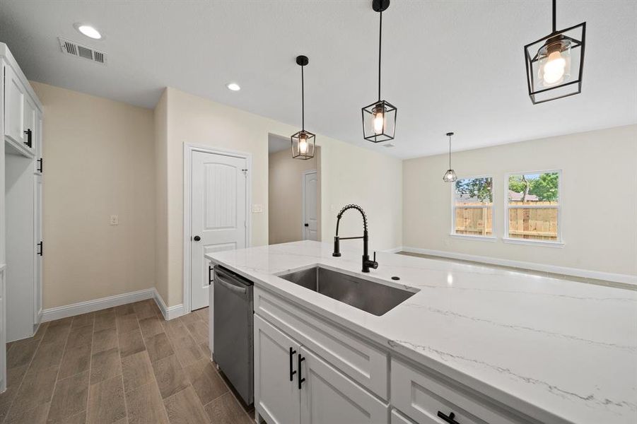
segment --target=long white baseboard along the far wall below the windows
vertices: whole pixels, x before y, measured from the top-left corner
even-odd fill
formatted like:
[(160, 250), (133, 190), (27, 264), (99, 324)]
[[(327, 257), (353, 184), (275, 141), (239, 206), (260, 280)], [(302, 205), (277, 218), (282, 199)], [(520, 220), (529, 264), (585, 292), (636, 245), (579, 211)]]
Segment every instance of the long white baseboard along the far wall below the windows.
[(594, 278), (595, 280), (614, 281), (615, 283), (637, 285), (637, 276), (631, 276), (629, 274), (591, 271), (588, 269), (570, 268), (568, 266), (556, 266), (549, 264), (537, 264), (534, 262), (512, 261), (510, 259), (499, 259), (493, 257), (483, 257), (474, 254), (445, 252), (443, 250), (421, 249), (419, 247), (402, 247), (402, 252), (428, 254), (431, 256), (443, 258), (461, 259), (463, 261), (482, 262), (484, 264), (511, 266), (513, 268), (532, 269), (533, 271), (557, 273), (565, 276)]

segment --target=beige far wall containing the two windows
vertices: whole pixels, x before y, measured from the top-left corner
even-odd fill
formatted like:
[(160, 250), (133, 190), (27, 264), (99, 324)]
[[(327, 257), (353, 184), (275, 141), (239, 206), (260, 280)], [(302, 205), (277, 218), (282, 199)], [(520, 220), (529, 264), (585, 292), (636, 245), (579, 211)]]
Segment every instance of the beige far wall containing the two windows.
[[(494, 177), (496, 242), (450, 237), (447, 160), (404, 161), (404, 246), (637, 275), (636, 125), (454, 153), (458, 177)], [(562, 170), (564, 247), (504, 243), (505, 174), (554, 169)]]

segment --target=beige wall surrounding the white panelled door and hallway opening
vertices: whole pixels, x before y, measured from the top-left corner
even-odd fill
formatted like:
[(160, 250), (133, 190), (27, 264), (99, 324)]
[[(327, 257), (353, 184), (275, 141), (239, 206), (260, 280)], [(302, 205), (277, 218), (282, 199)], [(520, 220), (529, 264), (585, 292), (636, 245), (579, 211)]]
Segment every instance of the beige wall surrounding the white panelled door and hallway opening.
[[(165, 92), (168, 134), (166, 153), (167, 245), (158, 240), (158, 249), (167, 249), (168, 271), (158, 272), (157, 287), (168, 287), (163, 296), (168, 306), (183, 301), (183, 146), (192, 143), (225, 148), (252, 155), (252, 204), (261, 204), (263, 213), (252, 213), (251, 245), (268, 244), (268, 134), (288, 136), (296, 126), (276, 122), (256, 114), (221, 105), (174, 88)], [(156, 117), (158, 115), (156, 114)], [(158, 140), (156, 140), (156, 144)], [(361, 202), (370, 209), (373, 249), (399, 246), (402, 162), (373, 151), (317, 134), (322, 147), (322, 236), (334, 234), (336, 213), (344, 204)], [(161, 167), (162, 165), (158, 165)], [(334, 174), (334, 175), (332, 175)], [(158, 181), (158, 184), (163, 182)], [(159, 187), (158, 190), (164, 190)], [(332, 211), (332, 207), (334, 211)], [(326, 218), (328, 220), (326, 220)], [(352, 216), (347, 217), (348, 220)], [(158, 221), (159, 222), (159, 221)], [(352, 228), (348, 228), (353, 225)], [(358, 221), (344, 223), (343, 232), (360, 232)], [(158, 234), (160, 230), (158, 230)], [(329, 234), (329, 238), (325, 235)], [(163, 251), (163, 250), (162, 250)]]

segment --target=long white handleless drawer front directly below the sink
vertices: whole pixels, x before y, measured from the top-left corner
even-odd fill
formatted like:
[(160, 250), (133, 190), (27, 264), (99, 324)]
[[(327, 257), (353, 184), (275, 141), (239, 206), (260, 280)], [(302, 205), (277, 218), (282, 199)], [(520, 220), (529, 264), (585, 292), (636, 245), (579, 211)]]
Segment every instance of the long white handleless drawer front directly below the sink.
[(255, 313), (387, 399), (387, 354), (380, 349), (259, 288), (255, 288)]

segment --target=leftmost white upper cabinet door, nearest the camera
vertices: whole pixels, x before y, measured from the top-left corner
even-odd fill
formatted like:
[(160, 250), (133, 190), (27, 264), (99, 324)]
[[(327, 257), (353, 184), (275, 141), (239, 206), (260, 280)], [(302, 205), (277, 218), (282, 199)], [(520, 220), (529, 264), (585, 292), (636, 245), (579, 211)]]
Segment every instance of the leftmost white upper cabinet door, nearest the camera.
[(4, 66), (4, 134), (16, 145), (24, 143), (24, 87), (11, 66)]

